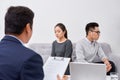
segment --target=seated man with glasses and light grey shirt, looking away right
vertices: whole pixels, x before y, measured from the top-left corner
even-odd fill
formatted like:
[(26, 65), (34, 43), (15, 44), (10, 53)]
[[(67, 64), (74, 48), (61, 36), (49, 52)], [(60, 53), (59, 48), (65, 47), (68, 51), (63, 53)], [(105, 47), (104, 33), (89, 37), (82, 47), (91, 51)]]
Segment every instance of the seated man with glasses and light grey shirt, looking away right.
[(115, 72), (115, 66), (109, 61), (103, 52), (100, 44), (97, 42), (100, 36), (98, 23), (92, 22), (86, 25), (86, 38), (76, 44), (76, 61), (79, 62), (102, 62), (106, 64), (107, 74)]

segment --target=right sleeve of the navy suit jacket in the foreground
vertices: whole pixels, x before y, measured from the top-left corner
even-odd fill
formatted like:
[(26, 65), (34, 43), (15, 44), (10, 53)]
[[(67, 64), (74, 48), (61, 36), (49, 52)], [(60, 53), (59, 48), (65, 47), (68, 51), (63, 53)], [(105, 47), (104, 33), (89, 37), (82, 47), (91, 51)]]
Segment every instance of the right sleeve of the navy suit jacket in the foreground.
[(41, 56), (34, 55), (24, 63), (20, 78), (20, 80), (43, 80), (44, 72)]

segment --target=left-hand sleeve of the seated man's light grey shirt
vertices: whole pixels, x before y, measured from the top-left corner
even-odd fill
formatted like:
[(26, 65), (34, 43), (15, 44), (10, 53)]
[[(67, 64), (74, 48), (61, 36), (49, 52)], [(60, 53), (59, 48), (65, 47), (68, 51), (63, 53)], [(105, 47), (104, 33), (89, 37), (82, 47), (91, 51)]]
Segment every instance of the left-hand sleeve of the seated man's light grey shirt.
[(76, 60), (77, 62), (86, 62), (87, 61), (85, 60), (85, 56), (84, 56), (84, 51), (83, 51), (83, 47), (82, 45), (80, 44), (80, 42), (77, 42), (76, 43)]

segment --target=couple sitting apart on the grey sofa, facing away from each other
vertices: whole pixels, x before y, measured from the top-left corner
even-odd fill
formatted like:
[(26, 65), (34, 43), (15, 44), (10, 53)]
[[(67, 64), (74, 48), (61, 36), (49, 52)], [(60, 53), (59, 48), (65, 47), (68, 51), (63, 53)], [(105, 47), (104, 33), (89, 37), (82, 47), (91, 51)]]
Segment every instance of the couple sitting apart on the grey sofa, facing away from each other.
[[(62, 23), (58, 23), (55, 28), (57, 40), (52, 44), (51, 56), (72, 57), (72, 42), (67, 38), (67, 30)], [(97, 42), (100, 36), (99, 25), (96, 22), (88, 23), (85, 27), (86, 37), (76, 43), (76, 60), (78, 62), (104, 63), (106, 64), (107, 74), (115, 72), (115, 65), (109, 61)], [(98, 60), (99, 59), (99, 60)], [(71, 60), (72, 61), (72, 60)], [(70, 75), (69, 66), (65, 75)]]

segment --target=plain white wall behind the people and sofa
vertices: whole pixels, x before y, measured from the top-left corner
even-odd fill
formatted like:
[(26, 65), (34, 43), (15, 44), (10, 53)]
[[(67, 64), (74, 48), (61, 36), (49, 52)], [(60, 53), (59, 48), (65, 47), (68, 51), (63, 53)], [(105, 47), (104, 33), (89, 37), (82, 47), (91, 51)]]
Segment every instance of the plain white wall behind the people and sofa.
[(88, 22), (98, 22), (100, 42), (108, 42), (120, 53), (120, 0), (2, 0), (0, 1), (0, 38), (4, 36), (4, 15), (9, 6), (23, 5), (35, 12), (34, 33), (30, 43), (51, 43), (54, 26), (62, 22), (68, 36), (76, 42), (85, 36)]

